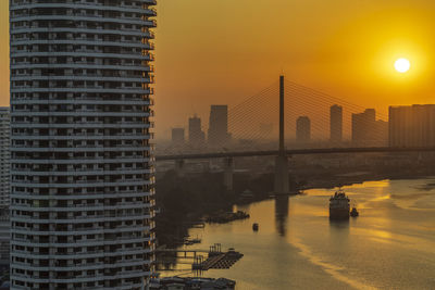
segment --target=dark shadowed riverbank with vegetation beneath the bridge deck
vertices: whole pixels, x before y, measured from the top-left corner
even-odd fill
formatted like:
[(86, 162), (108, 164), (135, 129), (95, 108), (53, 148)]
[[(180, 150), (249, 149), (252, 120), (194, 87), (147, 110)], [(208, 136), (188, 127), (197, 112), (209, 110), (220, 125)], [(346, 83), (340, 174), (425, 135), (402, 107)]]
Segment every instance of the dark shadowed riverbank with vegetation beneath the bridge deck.
[[(340, 186), (378, 181), (385, 179), (413, 179), (434, 176), (431, 167), (389, 168), (383, 171), (322, 171), (318, 173), (290, 174), (293, 191), (314, 188), (331, 189)], [(188, 238), (189, 228), (201, 223), (228, 223), (247, 218), (246, 213), (233, 212), (234, 205), (260, 202), (271, 199), (273, 174), (234, 175), (234, 190), (223, 186), (223, 176), (217, 173), (201, 173), (179, 176), (169, 171), (157, 181), (157, 206), (160, 213), (156, 217), (158, 247), (176, 248)], [(233, 219), (234, 218), (234, 219)]]

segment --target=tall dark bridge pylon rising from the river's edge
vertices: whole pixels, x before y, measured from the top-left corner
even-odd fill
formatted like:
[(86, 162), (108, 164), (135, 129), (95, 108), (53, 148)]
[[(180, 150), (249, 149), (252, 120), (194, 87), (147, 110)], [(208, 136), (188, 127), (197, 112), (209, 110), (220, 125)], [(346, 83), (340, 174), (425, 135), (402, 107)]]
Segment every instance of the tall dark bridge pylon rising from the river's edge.
[(279, 76), (279, 150), (275, 159), (275, 186), (276, 194), (289, 193), (288, 159), (285, 152), (284, 136), (284, 76)]

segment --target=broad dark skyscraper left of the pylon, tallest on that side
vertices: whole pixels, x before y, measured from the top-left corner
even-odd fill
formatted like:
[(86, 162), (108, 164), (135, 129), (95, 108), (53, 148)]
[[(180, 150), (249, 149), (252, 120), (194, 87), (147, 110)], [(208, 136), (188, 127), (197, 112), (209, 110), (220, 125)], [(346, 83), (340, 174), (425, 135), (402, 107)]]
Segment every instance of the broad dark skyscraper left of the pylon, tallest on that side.
[(211, 146), (225, 146), (229, 142), (227, 105), (211, 106), (208, 139)]

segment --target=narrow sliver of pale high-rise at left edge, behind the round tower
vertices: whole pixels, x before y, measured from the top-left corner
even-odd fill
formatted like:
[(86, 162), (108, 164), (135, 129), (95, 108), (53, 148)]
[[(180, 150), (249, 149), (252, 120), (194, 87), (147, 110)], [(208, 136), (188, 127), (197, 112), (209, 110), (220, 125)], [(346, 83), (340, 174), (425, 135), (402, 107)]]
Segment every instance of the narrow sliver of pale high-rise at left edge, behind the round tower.
[(9, 106), (0, 108), (0, 207), (10, 202), (11, 115)]

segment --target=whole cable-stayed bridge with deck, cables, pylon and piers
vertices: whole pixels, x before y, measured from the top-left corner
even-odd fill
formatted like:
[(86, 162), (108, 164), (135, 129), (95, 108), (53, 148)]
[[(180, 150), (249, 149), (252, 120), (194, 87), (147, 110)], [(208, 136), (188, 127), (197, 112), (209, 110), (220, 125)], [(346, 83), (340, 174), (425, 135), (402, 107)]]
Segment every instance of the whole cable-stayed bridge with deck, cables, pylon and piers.
[[(334, 104), (343, 109), (339, 125), (343, 138), (338, 140), (330, 134), (333, 130), (330, 127), (330, 108)], [(286, 193), (289, 191), (289, 155), (435, 151), (435, 147), (389, 147), (388, 116), (377, 113), (376, 119), (374, 110), (364, 111), (363, 106), (285, 80), (281, 76), (279, 81), (228, 110), (227, 127), (232, 142), (187, 143), (186, 147), (160, 151), (156, 159), (176, 161), (178, 167), (183, 166), (185, 160), (224, 159), (225, 179), (232, 180), (234, 157), (276, 156), (275, 192)], [(364, 117), (362, 112), (371, 116)], [(352, 117), (352, 114), (359, 115)], [(306, 121), (309, 118), (309, 139), (299, 140), (296, 136), (296, 119), (299, 116), (304, 116)], [(209, 139), (216, 138), (209, 136)]]

